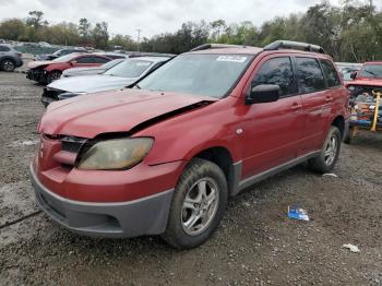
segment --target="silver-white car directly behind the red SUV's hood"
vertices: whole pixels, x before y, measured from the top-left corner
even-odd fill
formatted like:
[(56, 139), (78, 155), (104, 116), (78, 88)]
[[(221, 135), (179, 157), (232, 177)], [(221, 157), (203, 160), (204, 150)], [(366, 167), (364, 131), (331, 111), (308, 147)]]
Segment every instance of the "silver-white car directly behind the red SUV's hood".
[(82, 94), (131, 87), (169, 59), (169, 57), (130, 58), (103, 74), (60, 79), (44, 88), (41, 103), (48, 106), (51, 102)]

